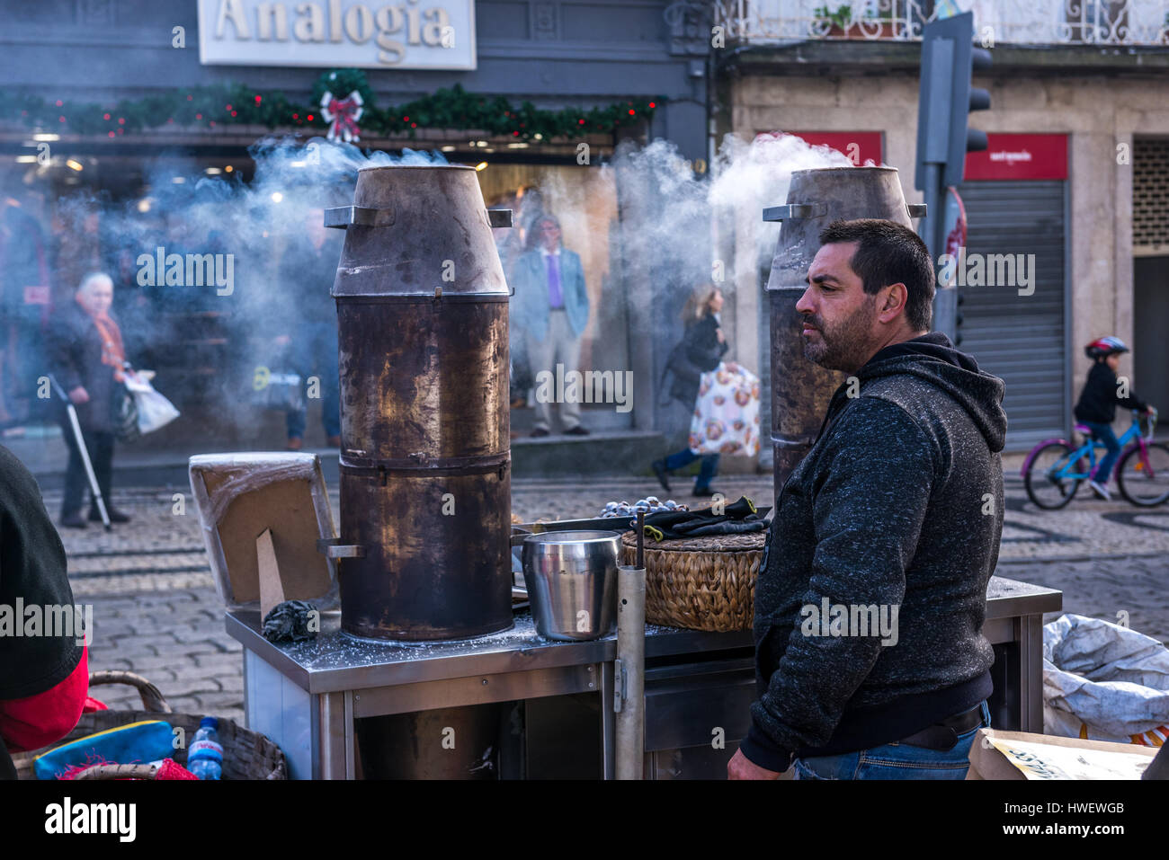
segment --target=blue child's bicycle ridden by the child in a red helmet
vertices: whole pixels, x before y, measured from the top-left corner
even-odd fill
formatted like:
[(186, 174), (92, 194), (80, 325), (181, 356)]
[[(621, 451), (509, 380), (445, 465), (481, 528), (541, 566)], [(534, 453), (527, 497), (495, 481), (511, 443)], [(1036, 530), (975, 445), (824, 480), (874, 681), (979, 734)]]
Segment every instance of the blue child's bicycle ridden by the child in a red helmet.
[[(1133, 425), (1120, 437), (1123, 452), (1116, 460), (1116, 485), (1121, 495), (1142, 507), (1169, 500), (1169, 445), (1153, 441), (1156, 424), (1157, 410), (1150, 409), (1149, 430), (1142, 435), (1140, 414), (1134, 409)], [(1079, 448), (1066, 439), (1044, 439), (1023, 462), (1026, 494), (1047, 511), (1064, 507), (1072, 500), (1080, 483), (1095, 476), (1097, 450), (1106, 450), (1084, 424), (1077, 424), (1075, 431), (1085, 437)]]

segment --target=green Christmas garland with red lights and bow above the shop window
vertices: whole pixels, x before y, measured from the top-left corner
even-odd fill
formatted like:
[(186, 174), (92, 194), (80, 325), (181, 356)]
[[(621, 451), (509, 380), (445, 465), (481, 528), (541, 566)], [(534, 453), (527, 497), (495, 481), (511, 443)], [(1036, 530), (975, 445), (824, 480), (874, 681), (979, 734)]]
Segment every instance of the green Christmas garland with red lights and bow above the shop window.
[[(337, 86), (340, 83), (343, 85)], [(336, 89), (333, 89), (336, 86)], [(180, 89), (167, 95), (123, 99), (113, 106), (92, 103), (48, 100), (28, 93), (0, 90), (0, 120), (16, 120), (28, 126), (76, 134), (102, 134), (116, 138), (126, 132), (165, 126), (262, 125), (265, 129), (327, 129), (320, 117), (320, 95), (332, 90), (345, 98), (354, 89), (361, 92), (365, 113), (358, 125), (362, 136), (389, 137), (406, 133), (415, 137), (419, 129), (482, 130), (491, 136), (509, 136), (517, 140), (579, 137), (613, 133), (653, 116), (658, 100), (630, 100), (588, 111), (566, 108), (541, 110), (530, 102), (518, 108), (502, 96), (487, 97), (466, 92), (459, 84), (438, 90), (431, 96), (403, 105), (378, 109), (373, 92), (359, 69), (333, 69), (324, 72), (313, 88), (316, 104), (305, 106), (290, 102), (282, 92), (257, 92), (243, 84), (215, 84)]]

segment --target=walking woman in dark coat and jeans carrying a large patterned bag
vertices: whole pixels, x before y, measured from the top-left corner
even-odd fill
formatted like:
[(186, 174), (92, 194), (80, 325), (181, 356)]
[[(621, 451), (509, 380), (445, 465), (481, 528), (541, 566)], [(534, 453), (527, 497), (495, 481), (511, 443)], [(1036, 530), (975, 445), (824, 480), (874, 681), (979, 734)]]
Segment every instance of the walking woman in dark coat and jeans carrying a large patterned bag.
[[(729, 349), (719, 322), (721, 310), (722, 293), (713, 284), (703, 284), (691, 294), (682, 313), (686, 333), (682, 338), (682, 354), (675, 354), (669, 368), (673, 374), (670, 396), (691, 409), (698, 400), (701, 375), (717, 368)], [(689, 466), (699, 457), (703, 464), (694, 481), (694, 495), (713, 495), (719, 492), (711, 487), (711, 480), (719, 471), (717, 453), (699, 455), (685, 448), (665, 459), (655, 460), (651, 466), (663, 488), (670, 492), (670, 472)]]

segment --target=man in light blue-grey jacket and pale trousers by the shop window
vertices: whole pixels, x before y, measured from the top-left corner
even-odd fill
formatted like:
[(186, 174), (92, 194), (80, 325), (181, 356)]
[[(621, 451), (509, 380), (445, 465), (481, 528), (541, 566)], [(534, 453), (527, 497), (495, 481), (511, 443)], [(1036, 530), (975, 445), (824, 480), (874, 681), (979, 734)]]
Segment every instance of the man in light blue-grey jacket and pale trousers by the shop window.
[[(588, 325), (588, 292), (581, 258), (560, 244), (560, 222), (542, 215), (533, 224), (539, 248), (516, 263), (512, 282), (512, 321), (523, 331), (532, 373), (547, 372), (552, 379), (579, 369), (581, 335)], [(559, 374), (558, 374), (558, 367)], [(559, 386), (545, 387), (559, 391)], [(539, 393), (539, 388), (537, 389)], [(575, 402), (573, 402), (575, 401)], [(581, 426), (581, 407), (576, 398), (560, 404), (560, 421), (569, 436), (587, 436)], [(552, 428), (552, 404), (538, 396), (535, 426), (532, 436), (547, 436)]]

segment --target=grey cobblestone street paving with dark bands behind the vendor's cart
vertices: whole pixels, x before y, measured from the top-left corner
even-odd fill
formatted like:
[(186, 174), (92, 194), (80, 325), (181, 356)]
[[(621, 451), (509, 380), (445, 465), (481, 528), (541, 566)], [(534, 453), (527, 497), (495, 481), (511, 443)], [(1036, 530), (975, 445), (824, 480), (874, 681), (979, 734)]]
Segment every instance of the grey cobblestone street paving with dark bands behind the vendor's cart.
[[(998, 573), (1063, 590), (1068, 612), (1109, 620), (1127, 612), (1133, 629), (1169, 641), (1169, 507), (1146, 511), (1085, 493), (1064, 511), (1039, 511), (1016, 474), (1007, 476)], [(717, 486), (731, 499), (770, 504), (769, 476), (728, 474)], [(63, 529), (75, 599), (94, 605), (90, 671), (132, 670), (154, 681), (175, 710), (242, 720), (241, 647), (223, 630), (189, 492), (178, 512), (174, 493), (185, 491), (116, 491), (115, 505), (132, 522), (112, 533)], [(512, 509), (524, 521), (572, 519), (648, 494), (665, 498), (652, 478), (517, 480)], [(701, 504), (683, 479), (672, 495)], [(336, 488), (331, 498), (336, 513)], [(47, 493), (46, 504), (56, 512), (60, 495)], [(106, 687), (98, 698), (118, 708), (136, 703), (129, 688)]]

